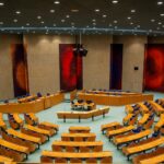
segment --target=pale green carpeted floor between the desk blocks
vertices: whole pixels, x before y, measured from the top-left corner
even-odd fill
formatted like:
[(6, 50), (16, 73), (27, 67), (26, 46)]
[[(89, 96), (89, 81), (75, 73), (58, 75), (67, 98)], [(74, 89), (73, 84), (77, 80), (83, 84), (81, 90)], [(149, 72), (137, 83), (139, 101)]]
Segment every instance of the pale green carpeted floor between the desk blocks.
[[(149, 92), (150, 93), (150, 92)], [(162, 93), (153, 93), (154, 94), (154, 99), (164, 97), (164, 94)], [(68, 97), (68, 95), (66, 95)], [(97, 106), (101, 107), (101, 106)], [(50, 138), (50, 141), (40, 145), (40, 149), (37, 150), (35, 153), (28, 155), (28, 160), (25, 161), (27, 163), (38, 163), (40, 159), (40, 153), (43, 150), (51, 150), (51, 143), (55, 140), (61, 140), (60, 134), (62, 132), (67, 132), (68, 128), (70, 126), (90, 126), (92, 129), (92, 132), (96, 133), (96, 140), (101, 140), (104, 142), (104, 151), (112, 151), (113, 152), (113, 162), (114, 164), (128, 164), (131, 163), (131, 161), (127, 161), (127, 157), (121, 153), (121, 151), (118, 151), (117, 148), (108, 141), (108, 139), (102, 134), (101, 132), (101, 125), (107, 124), (107, 122), (113, 122), (113, 121), (122, 121), (122, 118), (126, 116), (125, 113), (125, 106), (121, 107), (115, 107), (112, 106), (109, 114), (106, 115), (105, 118), (103, 117), (97, 117), (95, 118), (94, 121), (91, 119), (89, 120), (82, 120), (79, 122), (78, 120), (67, 120), (67, 122), (63, 122), (62, 120), (59, 120), (57, 118), (56, 113), (60, 110), (70, 110), (70, 103), (61, 103), (59, 105), (56, 105), (47, 110), (40, 112), (37, 114), (39, 121), (49, 121), (54, 122), (60, 126), (59, 132), (57, 136), (54, 136)], [(157, 119), (157, 118), (156, 118)]]

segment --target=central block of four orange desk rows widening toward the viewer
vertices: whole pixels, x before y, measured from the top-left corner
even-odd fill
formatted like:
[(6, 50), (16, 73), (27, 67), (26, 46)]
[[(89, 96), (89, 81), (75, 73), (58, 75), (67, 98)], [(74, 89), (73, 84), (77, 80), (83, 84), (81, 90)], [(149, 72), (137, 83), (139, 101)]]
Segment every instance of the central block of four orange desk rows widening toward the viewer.
[[(109, 164), (113, 162), (112, 152), (103, 151), (103, 142), (95, 141), (95, 133), (82, 133), (81, 130), (89, 127), (71, 127), (80, 133), (62, 133), (61, 141), (52, 143), (52, 151), (43, 151), (42, 163), (98, 163)], [(73, 131), (73, 132), (74, 132)], [(67, 138), (63, 141), (63, 137)], [(92, 140), (89, 138), (92, 137)], [(94, 137), (94, 138), (93, 138)], [(65, 139), (66, 139), (65, 138)]]

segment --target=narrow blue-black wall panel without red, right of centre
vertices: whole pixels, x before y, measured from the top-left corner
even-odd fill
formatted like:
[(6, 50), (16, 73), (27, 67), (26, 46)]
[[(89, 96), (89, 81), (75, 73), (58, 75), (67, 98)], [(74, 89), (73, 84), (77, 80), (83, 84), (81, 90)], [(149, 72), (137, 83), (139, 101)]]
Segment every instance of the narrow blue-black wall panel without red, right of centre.
[(110, 45), (110, 90), (121, 90), (122, 44)]

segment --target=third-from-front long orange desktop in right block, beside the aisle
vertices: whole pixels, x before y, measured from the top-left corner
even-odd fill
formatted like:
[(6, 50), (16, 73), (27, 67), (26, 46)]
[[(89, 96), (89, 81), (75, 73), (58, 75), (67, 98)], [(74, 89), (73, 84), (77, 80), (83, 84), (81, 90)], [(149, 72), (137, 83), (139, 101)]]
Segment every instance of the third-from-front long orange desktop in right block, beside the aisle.
[(116, 139), (114, 138), (114, 143), (118, 148), (120, 144), (128, 143), (128, 142), (131, 142), (131, 141), (142, 139), (144, 137), (148, 137), (149, 134), (151, 134), (151, 132), (152, 132), (151, 130), (144, 130), (144, 131), (141, 131), (139, 133), (130, 134), (128, 137), (121, 137), (121, 138), (116, 138)]

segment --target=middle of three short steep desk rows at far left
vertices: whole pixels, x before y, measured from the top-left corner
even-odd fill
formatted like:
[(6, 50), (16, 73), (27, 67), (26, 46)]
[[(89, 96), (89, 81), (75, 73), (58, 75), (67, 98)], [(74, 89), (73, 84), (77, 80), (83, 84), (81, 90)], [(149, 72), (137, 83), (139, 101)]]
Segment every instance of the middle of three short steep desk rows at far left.
[(20, 129), (24, 124), (19, 114), (8, 114), (8, 119), (11, 128), (13, 129)]

